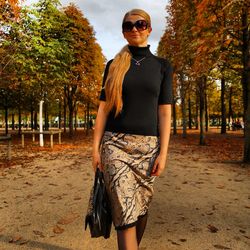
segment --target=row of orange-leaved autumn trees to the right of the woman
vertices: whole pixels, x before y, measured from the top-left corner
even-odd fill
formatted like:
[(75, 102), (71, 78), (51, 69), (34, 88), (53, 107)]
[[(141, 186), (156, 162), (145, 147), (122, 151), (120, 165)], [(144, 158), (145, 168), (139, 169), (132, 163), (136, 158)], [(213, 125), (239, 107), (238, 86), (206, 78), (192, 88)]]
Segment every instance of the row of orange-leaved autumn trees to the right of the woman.
[(190, 103), (195, 103), (199, 107), (194, 116), (199, 118), (200, 144), (205, 144), (210, 97), (219, 86), (221, 133), (226, 133), (227, 115), (229, 121), (233, 117), (234, 103), (242, 100), (244, 161), (250, 162), (249, 1), (170, 0), (166, 10), (167, 25), (158, 54), (169, 58), (174, 66), (174, 96), (175, 103), (181, 103), (183, 135), (186, 136), (187, 110), (191, 117)]

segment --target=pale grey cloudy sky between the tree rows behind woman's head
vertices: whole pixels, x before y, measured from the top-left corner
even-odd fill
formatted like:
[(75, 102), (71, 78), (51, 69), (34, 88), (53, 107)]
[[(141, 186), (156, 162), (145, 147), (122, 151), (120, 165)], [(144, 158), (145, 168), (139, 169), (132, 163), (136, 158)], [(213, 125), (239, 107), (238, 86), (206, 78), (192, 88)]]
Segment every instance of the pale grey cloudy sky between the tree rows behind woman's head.
[[(37, 2), (26, 0), (25, 4)], [(165, 7), (167, 0), (61, 0), (63, 6), (75, 3), (88, 18), (96, 32), (96, 38), (103, 54), (109, 60), (126, 44), (121, 32), (124, 14), (134, 8), (147, 11), (152, 19), (153, 31), (149, 38), (151, 51), (154, 53), (165, 29)]]

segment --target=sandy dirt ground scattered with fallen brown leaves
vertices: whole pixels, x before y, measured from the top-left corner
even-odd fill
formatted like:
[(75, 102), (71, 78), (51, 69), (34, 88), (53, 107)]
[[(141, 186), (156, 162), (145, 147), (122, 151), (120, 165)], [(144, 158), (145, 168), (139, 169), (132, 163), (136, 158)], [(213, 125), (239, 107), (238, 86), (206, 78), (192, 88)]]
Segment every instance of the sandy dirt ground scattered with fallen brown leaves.
[[(53, 150), (31, 140), (22, 149), (14, 138), (11, 162), (0, 155), (1, 250), (117, 249), (114, 229), (108, 240), (84, 230), (91, 141), (78, 133)], [(198, 143), (197, 131), (171, 137), (140, 250), (250, 249), (250, 166), (240, 162), (242, 132), (212, 131), (206, 146)]]

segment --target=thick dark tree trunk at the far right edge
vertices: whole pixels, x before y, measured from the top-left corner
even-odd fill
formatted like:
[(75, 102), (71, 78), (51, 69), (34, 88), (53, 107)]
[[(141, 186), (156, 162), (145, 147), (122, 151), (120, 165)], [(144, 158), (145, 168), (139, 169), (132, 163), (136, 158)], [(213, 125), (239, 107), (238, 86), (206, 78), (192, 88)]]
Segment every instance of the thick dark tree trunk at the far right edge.
[(243, 29), (243, 44), (242, 44), (242, 87), (244, 100), (244, 156), (243, 161), (250, 163), (250, 31), (248, 23), (248, 6), (245, 3), (242, 11), (242, 29)]

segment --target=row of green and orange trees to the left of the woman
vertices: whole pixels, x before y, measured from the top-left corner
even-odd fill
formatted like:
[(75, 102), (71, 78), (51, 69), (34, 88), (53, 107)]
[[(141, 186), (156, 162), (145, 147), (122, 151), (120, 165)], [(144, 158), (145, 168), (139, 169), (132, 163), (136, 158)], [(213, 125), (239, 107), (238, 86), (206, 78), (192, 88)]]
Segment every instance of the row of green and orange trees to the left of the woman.
[[(30, 112), (36, 128), (38, 103), (44, 101), (45, 127), (49, 113), (59, 105), (70, 134), (76, 106), (87, 112), (97, 103), (105, 58), (83, 13), (73, 4), (60, 8), (59, 0), (40, 0), (21, 8), (17, 0), (0, 5), (0, 108)], [(89, 116), (88, 116), (89, 117)]]

